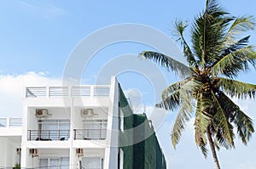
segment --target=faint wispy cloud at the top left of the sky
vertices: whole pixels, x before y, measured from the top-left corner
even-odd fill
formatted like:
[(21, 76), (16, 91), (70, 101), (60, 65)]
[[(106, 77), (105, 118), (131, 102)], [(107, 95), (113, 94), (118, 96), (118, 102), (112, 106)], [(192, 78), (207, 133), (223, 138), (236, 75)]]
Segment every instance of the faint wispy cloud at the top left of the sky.
[(56, 7), (52, 3), (39, 3), (41, 1), (36, 1), (36, 3), (27, 3), (25, 1), (17, 1), (21, 8), (25, 8), (26, 11), (32, 12), (34, 14), (40, 14), (45, 18), (55, 18), (62, 15), (67, 15), (67, 11), (63, 8)]

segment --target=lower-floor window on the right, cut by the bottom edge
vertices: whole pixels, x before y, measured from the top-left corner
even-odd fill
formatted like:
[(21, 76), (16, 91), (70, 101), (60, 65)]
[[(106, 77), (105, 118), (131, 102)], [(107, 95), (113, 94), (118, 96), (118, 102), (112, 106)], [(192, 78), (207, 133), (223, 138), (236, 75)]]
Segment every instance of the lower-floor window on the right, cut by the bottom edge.
[(104, 160), (102, 157), (83, 157), (82, 168), (84, 169), (103, 169)]

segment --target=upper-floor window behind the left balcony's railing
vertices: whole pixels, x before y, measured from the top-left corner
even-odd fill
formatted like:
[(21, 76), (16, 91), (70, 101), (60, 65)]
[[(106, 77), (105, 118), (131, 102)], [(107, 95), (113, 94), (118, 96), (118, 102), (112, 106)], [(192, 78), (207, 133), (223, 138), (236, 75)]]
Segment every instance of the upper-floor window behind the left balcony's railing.
[(38, 120), (40, 139), (67, 140), (69, 138), (69, 120)]

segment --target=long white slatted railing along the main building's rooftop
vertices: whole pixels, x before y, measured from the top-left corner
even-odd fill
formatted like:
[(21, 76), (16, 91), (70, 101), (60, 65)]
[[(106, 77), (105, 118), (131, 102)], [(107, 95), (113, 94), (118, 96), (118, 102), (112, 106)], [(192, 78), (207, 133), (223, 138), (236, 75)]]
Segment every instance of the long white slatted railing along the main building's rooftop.
[(106, 97), (109, 85), (87, 85), (78, 87), (26, 87), (26, 98), (58, 97)]

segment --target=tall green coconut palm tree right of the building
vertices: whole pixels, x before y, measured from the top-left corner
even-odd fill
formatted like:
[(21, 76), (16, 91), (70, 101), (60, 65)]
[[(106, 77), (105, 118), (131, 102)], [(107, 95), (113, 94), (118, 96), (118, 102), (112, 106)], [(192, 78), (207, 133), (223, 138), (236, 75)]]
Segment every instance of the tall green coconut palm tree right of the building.
[(195, 143), (207, 157), (207, 143), (213, 161), (219, 169), (216, 149), (235, 147), (235, 132), (243, 144), (254, 132), (252, 120), (232, 98), (255, 98), (256, 85), (236, 81), (240, 72), (255, 68), (256, 52), (248, 44), (249, 37), (240, 38), (254, 28), (253, 17), (234, 17), (221, 8), (217, 0), (207, 0), (206, 9), (191, 26), (191, 47), (183, 31), (187, 23), (176, 21), (175, 35), (183, 48), (187, 65), (165, 54), (145, 51), (143, 58), (153, 59), (167, 70), (183, 77), (162, 93), (157, 107), (177, 110), (172, 128), (174, 148), (179, 142), (186, 122), (195, 117)]

